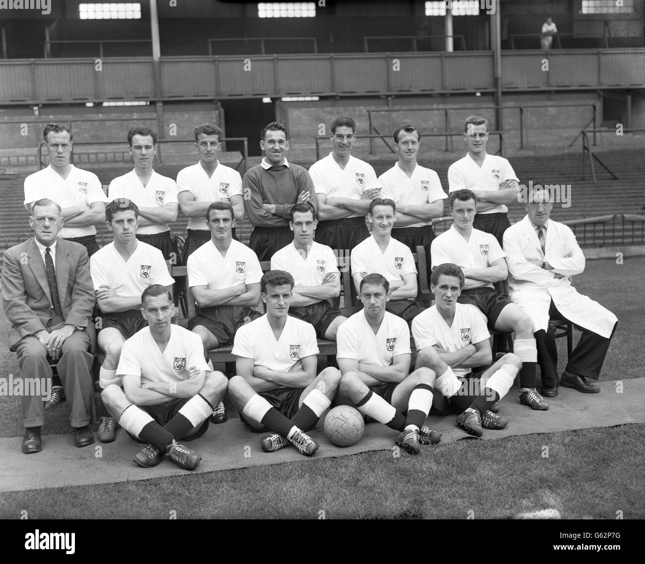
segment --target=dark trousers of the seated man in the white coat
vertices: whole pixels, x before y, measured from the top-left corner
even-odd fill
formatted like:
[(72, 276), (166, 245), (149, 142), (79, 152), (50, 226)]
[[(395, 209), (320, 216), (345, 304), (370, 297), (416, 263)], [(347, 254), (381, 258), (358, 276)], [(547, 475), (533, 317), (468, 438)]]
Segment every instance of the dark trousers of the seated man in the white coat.
[[(555, 307), (553, 300), (551, 300), (551, 306), (549, 307), (549, 316), (551, 319), (566, 319), (566, 316), (562, 315)], [(571, 351), (571, 358), (565, 370), (585, 378), (598, 380), (617, 325), (613, 327), (609, 338), (604, 338), (584, 327), (576, 326), (577, 329), (582, 331), (582, 335), (575, 349)], [(557, 376), (558, 349), (555, 345), (554, 333), (555, 327), (549, 327), (548, 331), (541, 329), (541, 331), (535, 333), (537, 363), (540, 365), (542, 385), (545, 387), (553, 387), (559, 384)]]

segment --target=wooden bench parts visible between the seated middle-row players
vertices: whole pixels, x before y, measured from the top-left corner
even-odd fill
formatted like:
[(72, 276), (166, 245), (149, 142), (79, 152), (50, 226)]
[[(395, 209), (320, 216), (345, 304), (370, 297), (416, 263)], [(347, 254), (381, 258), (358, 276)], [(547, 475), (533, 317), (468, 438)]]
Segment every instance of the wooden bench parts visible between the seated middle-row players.
[[(417, 266), (417, 303), (422, 306), (429, 307), (433, 295), (430, 293), (428, 287), (428, 269), (426, 267), (426, 251), (423, 247), (418, 246), (417, 252), (413, 253), (414, 262)], [(260, 263), (263, 272), (266, 272), (271, 269), (270, 261), (263, 261)], [(170, 275), (175, 278), (186, 278), (188, 277), (188, 271), (186, 266), (175, 266), (169, 265), (168, 269)], [(353, 313), (356, 313), (361, 309), (360, 302), (358, 300), (357, 293), (353, 287), (353, 280), (350, 273), (350, 257), (338, 257), (338, 269), (341, 271), (341, 288), (342, 288), (342, 297), (343, 297), (343, 306), (339, 307), (342, 315), (349, 317)], [(339, 299), (337, 300), (339, 302)], [(195, 298), (190, 291), (190, 287), (186, 284), (186, 318), (192, 318), (195, 316)], [(414, 348), (414, 342), (412, 337), (410, 337), (410, 344)], [(332, 357), (335, 360), (336, 355), (336, 342), (330, 341), (327, 339), (318, 339), (318, 356), (327, 356)], [(208, 358), (216, 363), (226, 364), (227, 373), (235, 373), (235, 356), (232, 355), (233, 347), (232, 345), (225, 345), (217, 349), (212, 349), (208, 351)]]

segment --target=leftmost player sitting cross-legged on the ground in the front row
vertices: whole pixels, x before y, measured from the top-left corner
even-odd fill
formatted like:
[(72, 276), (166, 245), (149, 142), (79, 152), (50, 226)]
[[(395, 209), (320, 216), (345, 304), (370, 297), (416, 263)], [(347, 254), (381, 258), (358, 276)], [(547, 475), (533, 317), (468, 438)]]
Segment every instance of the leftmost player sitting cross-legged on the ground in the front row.
[(121, 427), (150, 443), (134, 456), (139, 466), (156, 466), (165, 455), (180, 468), (194, 470), (201, 454), (177, 441), (206, 432), (213, 405), (226, 393), (226, 376), (210, 372), (199, 336), (171, 324), (175, 306), (166, 288), (147, 287), (141, 304), (148, 327), (121, 349), (117, 378), (123, 390), (118, 383), (109, 385), (101, 398)]

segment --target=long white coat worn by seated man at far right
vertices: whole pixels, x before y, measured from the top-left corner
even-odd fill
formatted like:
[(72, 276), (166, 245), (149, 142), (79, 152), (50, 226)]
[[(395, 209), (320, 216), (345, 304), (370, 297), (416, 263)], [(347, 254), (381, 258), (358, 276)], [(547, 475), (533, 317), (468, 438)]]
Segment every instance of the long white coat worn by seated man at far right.
[[(546, 331), (549, 306), (553, 300), (555, 307), (568, 320), (609, 338), (617, 317), (571, 286), (571, 276), (584, 271), (585, 264), (584, 254), (573, 231), (550, 219), (544, 248), (542, 254), (537, 231), (528, 215), (504, 231), (511, 301), (531, 317), (535, 331)], [(528, 262), (536, 258), (546, 260), (553, 270), (547, 271)], [(564, 278), (555, 278), (553, 273), (562, 274)]]

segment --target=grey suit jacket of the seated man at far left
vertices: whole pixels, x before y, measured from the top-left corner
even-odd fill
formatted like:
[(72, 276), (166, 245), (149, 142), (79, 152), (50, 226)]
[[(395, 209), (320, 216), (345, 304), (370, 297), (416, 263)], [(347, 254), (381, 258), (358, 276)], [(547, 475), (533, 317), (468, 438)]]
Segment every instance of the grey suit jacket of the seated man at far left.
[[(96, 301), (90, 278), (90, 260), (83, 245), (59, 238), (56, 243), (56, 286), (65, 324), (94, 329), (92, 309)], [(45, 262), (34, 237), (5, 251), (2, 267), (2, 299), (11, 322), (9, 349), (27, 335), (46, 329), (54, 316)]]

